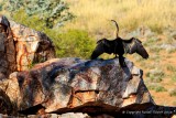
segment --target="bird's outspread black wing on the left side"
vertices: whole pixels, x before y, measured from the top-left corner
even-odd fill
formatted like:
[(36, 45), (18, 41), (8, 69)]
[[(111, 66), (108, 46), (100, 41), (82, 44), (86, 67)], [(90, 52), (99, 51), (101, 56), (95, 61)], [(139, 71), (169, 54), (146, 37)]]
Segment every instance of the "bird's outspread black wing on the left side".
[(91, 60), (97, 58), (102, 53), (106, 53), (109, 49), (110, 49), (110, 44), (109, 44), (108, 40), (102, 39), (102, 40), (98, 41), (97, 46), (91, 54)]

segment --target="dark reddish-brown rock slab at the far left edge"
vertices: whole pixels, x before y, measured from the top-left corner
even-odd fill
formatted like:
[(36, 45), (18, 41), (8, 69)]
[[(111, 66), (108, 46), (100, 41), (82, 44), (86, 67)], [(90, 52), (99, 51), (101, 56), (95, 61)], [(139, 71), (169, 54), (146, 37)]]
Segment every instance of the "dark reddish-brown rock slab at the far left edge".
[(0, 15), (0, 81), (16, 71), (15, 44), (8, 19)]

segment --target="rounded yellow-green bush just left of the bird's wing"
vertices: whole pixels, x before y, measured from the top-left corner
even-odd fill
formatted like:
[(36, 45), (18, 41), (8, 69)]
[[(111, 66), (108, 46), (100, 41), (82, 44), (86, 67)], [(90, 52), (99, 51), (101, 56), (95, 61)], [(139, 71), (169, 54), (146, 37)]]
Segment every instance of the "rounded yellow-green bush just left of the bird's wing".
[(89, 58), (95, 47), (95, 40), (86, 31), (68, 30), (54, 40), (58, 57), (72, 56)]

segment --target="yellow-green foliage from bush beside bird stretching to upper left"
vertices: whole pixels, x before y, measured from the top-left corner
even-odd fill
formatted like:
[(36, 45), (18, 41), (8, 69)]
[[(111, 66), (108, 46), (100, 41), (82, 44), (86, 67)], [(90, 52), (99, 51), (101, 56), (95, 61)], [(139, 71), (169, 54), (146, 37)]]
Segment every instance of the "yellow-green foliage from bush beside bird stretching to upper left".
[(38, 22), (40, 19), (36, 15), (29, 18), (23, 10), (18, 11), (13, 19), (21, 24), (46, 33), (54, 42), (57, 57), (89, 58), (96, 44), (95, 40), (88, 35), (88, 32), (82, 30), (68, 30), (63, 33), (59, 28), (48, 29), (44, 26), (44, 21)]

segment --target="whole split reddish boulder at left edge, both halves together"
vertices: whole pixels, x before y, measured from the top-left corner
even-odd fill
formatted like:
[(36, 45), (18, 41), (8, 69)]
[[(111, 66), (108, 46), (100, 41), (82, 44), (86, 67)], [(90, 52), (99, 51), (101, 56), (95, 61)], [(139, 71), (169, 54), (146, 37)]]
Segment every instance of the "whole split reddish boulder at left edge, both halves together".
[(46, 34), (0, 15), (0, 79), (4, 79), (12, 72), (55, 57), (55, 50)]

